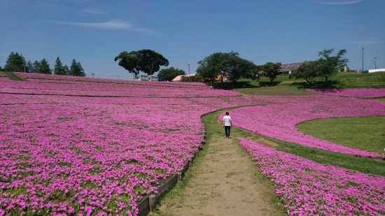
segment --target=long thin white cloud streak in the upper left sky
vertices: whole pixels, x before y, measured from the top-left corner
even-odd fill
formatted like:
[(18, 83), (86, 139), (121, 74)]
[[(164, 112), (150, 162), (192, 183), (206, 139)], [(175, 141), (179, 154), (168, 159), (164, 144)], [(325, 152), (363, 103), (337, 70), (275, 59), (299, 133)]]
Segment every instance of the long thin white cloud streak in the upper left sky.
[(141, 34), (151, 34), (153, 36), (160, 36), (158, 31), (153, 29), (140, 28), (135, 26), (130, 22), (117, 22), (117, 21), (109, 21), (109, 22), (62, 22), (62, 21), (48, 21), (57, 24), (67, 24), (76, 27), (87, 27), (94, 29), (105, 29), (105, 30), (128, 30), (134, 31)]

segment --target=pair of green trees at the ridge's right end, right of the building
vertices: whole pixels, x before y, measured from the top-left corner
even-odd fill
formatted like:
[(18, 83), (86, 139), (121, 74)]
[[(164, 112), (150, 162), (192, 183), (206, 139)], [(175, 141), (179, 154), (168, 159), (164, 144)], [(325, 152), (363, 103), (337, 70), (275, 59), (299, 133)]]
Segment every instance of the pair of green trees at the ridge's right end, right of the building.
[(346, 50), (339, 50), (337, 55), (334, 56), (332, 56), (332, 52), (334, 52), (334, 49), (318, 52), (318, 59), (304, 62), (304, 64), (290, 76), (293, 78), (302, 78), (309, 84), (313, 83), (316, 78), (323, 78), (324, 82), (328, 82), (330, 76), (341, 71), (342, 67), (346, 66), (349, 62), (348, 59), (344, 57)]

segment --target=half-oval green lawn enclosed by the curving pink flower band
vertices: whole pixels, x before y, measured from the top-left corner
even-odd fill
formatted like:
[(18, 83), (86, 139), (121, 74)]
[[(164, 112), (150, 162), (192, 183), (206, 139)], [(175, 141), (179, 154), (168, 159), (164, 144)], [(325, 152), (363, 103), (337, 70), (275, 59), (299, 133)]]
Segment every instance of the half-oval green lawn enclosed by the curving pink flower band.
[(385, 115), (311, 120), (297, 124), (297, 129), (332, 143), (384, 153)]

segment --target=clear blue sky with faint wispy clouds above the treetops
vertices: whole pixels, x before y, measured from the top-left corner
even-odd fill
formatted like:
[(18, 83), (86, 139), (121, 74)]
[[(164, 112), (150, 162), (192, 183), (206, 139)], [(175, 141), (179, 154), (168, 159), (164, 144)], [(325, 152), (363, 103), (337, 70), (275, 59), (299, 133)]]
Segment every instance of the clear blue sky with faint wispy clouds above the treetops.
[(214, 52), (239, 52), (255, 64), (316, 59), (346, 49), (351, 69), (385, 68), (384, 0), (97, 1), (0, 0), (0, 65), (10, 52), (27, 60), (80, 61), (87, 75), (132, 78), (113, 59), (151, 49), (194, 73)]

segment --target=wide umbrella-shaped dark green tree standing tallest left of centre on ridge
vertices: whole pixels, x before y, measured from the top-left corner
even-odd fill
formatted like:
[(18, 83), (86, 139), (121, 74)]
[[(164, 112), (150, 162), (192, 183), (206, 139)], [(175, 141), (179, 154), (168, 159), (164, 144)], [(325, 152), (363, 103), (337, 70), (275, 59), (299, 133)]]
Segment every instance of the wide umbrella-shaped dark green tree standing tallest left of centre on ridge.
[(134, 78), (137, 78), (140, 71), (153, 75), (160, 70), (160, 66), (169, 65), (169, 60), (153, 50), (120, 52), (115, 57), (115, 62), (118, 60), (120, 66), (123, 66), (128, 72), (134, 73)]

